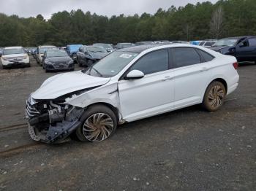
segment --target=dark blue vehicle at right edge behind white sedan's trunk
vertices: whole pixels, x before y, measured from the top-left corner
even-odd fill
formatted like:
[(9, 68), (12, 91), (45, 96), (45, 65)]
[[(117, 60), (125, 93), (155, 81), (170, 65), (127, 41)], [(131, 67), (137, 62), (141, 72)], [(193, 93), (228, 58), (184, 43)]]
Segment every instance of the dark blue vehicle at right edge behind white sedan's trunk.
[(255, 61), (256, 63), (256, 36), (219, 39), (210, 49), (224, 55), (233, 55), (239, 62)]

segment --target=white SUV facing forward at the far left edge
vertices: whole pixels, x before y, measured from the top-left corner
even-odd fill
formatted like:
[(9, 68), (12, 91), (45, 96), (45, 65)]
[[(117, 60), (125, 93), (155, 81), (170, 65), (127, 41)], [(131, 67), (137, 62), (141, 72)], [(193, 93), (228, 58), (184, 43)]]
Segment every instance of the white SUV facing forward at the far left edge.
[(3, 69), (12, 67), (30, 67), (29, 55), (23, 47), (5, 47), (1, 56)]

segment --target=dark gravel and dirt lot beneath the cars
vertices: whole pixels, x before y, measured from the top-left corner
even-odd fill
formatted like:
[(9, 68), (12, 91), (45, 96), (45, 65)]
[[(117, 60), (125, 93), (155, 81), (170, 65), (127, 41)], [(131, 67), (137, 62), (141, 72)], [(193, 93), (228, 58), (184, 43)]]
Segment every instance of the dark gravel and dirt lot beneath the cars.
[[(77, 67), (79, 69), (79, 67)], [(256, 65), (217, 112), (192, 106), (121, 125), (97, 144), (31, 141), (25, 101), (56, 73), (0, 70), (0, 190), (255, 190)]]

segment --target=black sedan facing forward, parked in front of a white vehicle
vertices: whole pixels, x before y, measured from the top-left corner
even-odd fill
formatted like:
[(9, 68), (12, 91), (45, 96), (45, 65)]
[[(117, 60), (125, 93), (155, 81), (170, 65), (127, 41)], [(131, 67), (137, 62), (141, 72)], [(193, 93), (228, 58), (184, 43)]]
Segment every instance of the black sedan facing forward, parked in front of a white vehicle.
[(46, 50), (42, 57), (42, 68), (45, 72), (75, 69), (74, 61), (65, 50)]

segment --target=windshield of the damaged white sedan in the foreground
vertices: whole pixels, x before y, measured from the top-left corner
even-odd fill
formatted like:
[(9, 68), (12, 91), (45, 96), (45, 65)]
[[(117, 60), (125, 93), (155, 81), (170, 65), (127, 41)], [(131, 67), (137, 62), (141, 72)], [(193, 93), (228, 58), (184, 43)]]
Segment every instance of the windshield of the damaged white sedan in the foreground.
[(83, 72), (94, 77), (114, 77), (137, 55), (135, 52), (113, 52)]

